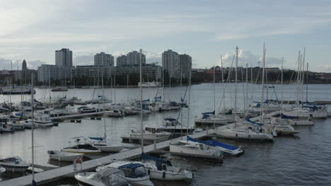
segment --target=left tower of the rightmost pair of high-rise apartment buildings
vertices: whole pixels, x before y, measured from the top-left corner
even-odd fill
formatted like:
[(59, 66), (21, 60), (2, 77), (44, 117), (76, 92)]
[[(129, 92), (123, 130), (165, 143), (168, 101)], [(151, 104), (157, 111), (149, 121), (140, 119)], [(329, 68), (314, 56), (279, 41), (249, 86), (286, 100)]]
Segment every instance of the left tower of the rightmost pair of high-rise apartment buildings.
[(162, 67), (170, 77), (180, 78), (180, 57), (175, 51), (168, 50), (162, 53)]

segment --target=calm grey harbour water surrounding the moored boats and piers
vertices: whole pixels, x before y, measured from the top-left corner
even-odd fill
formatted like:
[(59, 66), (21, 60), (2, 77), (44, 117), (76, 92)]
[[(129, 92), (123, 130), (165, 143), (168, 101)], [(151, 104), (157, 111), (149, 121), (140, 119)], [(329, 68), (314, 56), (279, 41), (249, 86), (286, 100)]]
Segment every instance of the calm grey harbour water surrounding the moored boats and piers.
[[(251, 91), (253, 89), (253, 92)], [(251, 95), (254, 101), (260, 101), (261, 86), (248, 86), (248, 97)], [(276, 86), (275, 92), (280, 99), (280, 86)], [(284, 86), (284, 100), (294, 100), (296, 98), (296, 87), (294, 85)], [(49, 89), (36, 89), (35, 97), (42, 101), (50, 97)], [(139, 89), (116, 89), (116, 102), (138, 99)], [(185, 87), (165, 88), (165, 99), (171, 98), (179, 101), (183, 97)], [(234, 103), (234, 85), (226, 87), (226, 106), (230, 107)], [(91, 99), (93, 89), (69, 89), (68, 92), (52, 92), (51, 97), (79, 97), (83, 100)], [(95, 92), (95, 95), (102, 94)], [(153, 98), (156, 89), (144, 89), (144, 99)], [(238, 84), (238, 107), (243, 108), (243, 85)], [(308, 99), (331, 100), (331, 85), (309, 85)], [(105, 89), (105, 95), (114, 100), (113, 89)], [(216, 84), (216, 101), (214, 101), (214, 85), (202, 84), (193, 85), (191, 88), (191, 109), (189, 125), (193, 125), (194, 117), (200, 117), (204, 111), (213, 111), (214, 102), (216, 110), (219, 109), (223, 95), (223, 85)], [(305, 92), (306, 99), (306, 92)], [(273, 90), (268, 91), (268, 97), (275, 99)], [(11, 100), (21, 101), (21, 95), (14, 95)], [(8, 96), (0, 95), (1, 101), (10, 99)], [(23, 99), (29, 99), (23, 97)], [(223, 104), (221, 104), (223, 108)], [(74, 109), (74, 107), (68, 107)], [(331, 110), (329, 108), (329, 110)], [(187, 109), (182, 109), (179, 119), (187, 125)], [(165, 113), (151, 113), (144, 115), (145, 126), (163, 125), (163, 118), (178, 117), (178, 111)], [(107, 135), (110, 142), (120, 144), (121, 136), (127, 135), (132, 129), (139, 129), (139, 116), (129, 116), (125, 118), (106, 118)], [(185, 159), (175, 160), (180, 166), (191, 165), (194, 170), (194, 179), (191, 183), (167, 183), (155, 182), (156, 185), (331, 185), (330, 177), (330, 151), (331, 151), (331, 119), (315, 120), (313, 127), (297, 128), (301, 133), (296, 137), (277, 137), (274, 143), (248, 143), (229, 142), (231, 144), (244, 147), (245, 154), (240, 157), (224, 159), (223, 165), (190, 161)], [(45, 166), (53, 166), (49, 162), (47, 150), (61, 149), (69, 145), (70, 137), (76, 136), (102, 136), (103, 120), (83, 119), (82, 123), (59, 123), (59, 127), (35, 130), (35, 163)], [(24, 160), (31, 161), (30, 138), (31, 131), (18, 131), (13, 134), (0, 135), (0, 156), (21, 156)], [(62, 166), (56, 162), (58, 166)], [(1, 178), (0, 178), (1, 179)], [(4, 178), (3, 178), (4, 179)], [(66, 181), (71, 182), (66, 183)], [(72, 185), (73, 180), (66, 180), (64, 183), (54, 185)]]

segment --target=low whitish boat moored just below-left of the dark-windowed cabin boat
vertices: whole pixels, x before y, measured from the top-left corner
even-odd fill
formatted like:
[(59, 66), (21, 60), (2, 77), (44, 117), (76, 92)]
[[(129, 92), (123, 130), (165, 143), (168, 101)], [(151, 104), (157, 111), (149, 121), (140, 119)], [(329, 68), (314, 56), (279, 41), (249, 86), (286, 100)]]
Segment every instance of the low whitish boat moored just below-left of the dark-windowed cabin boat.
[[(143, 130), (144, 140), (168, 140), (171, 133), (170, 132), (149, 132), (147, 130)], [(141, 138), (141, 130), (132, 130), (130, 134), (131, 138)]]

